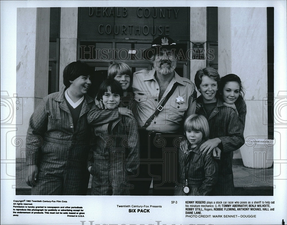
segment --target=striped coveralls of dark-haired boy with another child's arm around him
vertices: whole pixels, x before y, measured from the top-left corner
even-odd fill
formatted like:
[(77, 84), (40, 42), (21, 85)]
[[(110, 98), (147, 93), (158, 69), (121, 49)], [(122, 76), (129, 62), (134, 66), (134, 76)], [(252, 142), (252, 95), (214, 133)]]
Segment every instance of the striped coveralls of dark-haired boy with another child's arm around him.
[[(102, 110), (101, 114), (109, 111), (112, 110)], [(94, 134), (96, 142), (90, 150), (87, 165), (92, 166), (92, 195), (129, 195), (128, 176), (135, 175), (138, 167), (135, 120), (121, 115), (113, 122), (94, 126)]]

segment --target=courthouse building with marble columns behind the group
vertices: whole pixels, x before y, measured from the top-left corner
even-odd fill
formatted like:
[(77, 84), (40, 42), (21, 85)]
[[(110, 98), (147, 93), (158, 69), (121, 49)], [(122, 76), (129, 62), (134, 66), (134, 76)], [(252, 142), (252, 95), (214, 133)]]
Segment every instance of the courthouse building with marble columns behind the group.
[[(176, 69), (180, 76), (194, 82), (196, 71), (206, 66), (221, 77), (238, 75), (246, 91), (245, 138), (272, 140), (273, 94), (267, 93), (274, 92), (273, 19), (269, 7), (18, 8), (16, 88), (23, 123), (16, 135), (26, 135), (44, 96), (63, 89), (67, 64), (82, 60), (92, 66), (93, 95), (111, 63), (125, 62), (133, 72), (151, 69), (141, 53), (164, 35), (183, 49)], [(245, 144), (242, 150), (253, 148)], [(266, 160), (268, 154), (260, 157)], [(242, 157), (234, 152), (234, 159)], [(16, 158), (25, 159), (25, 138), (16, 146)]]

